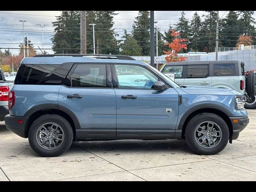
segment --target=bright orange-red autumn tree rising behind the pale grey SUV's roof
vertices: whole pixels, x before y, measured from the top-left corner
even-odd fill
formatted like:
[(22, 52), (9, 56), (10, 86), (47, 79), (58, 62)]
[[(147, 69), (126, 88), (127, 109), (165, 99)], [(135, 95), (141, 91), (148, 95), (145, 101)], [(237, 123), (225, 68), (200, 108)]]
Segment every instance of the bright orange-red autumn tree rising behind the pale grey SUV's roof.
[(171, 36), (174, 37), (174, 40), (170, 44), (166, 43), (166, 45), (168, 45), (171, 50), (164, 52), (167, 55), (165, 60), (166, 62), (185, 61), (187, 57), (178, 56), (178, 53), (182, 49), (188, 49), (187, 44), (184, 43), (188, 40), (179, 38), (180, 32), (176, 32), (175, 30), (171, 30), (171, 32)]

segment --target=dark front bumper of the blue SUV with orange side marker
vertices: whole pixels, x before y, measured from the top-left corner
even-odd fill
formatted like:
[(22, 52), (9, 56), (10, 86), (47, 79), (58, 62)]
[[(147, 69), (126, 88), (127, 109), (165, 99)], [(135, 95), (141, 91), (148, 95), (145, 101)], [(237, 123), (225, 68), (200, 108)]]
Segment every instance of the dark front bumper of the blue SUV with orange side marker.
[(233, 134), (230, 140), (235, 140), (238, 138), (239, 133), (246, 128), (249, 123), (248, 116), (242, 117), (230, 117), (233, 126)]

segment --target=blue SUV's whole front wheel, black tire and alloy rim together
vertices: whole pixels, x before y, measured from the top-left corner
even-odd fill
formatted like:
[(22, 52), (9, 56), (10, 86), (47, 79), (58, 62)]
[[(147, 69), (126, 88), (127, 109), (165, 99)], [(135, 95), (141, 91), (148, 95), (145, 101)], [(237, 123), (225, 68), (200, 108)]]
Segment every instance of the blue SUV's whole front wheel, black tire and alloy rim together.
[(197, 154), (213, 155), (226, 147), (229, 130), (220, 116), (201, 113), (188, 122), (185, 138), (188, 146)]

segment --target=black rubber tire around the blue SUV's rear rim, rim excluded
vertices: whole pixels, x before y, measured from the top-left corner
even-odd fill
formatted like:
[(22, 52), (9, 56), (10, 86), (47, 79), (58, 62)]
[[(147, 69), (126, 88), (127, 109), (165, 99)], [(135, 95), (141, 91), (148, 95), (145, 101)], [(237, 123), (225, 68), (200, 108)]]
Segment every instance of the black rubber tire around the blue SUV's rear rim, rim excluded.
[[(46, 126), (47, 126), (47, 124), (50, 124), (50, 123), (57, 124), (62, 129), (60, 131), (60, 134), (62, 134), (62, 136), (63, 136), (62, 140), (61, 141), (57, 140), (59, 143), (57, 142), (56, 144), (59, 144), (59, 146), (54, 149), (47, 149), (47, 146), (44, 146), (42, 144), (40, 145), (38, 142), (38, 138), (37, 138), (38, 134), (40, 134), (39, 128), (42, 128), (42, 126), (44, 124), (46, 124)], [(47, 132), (47, 133), (49, 133), (49, 132)], [(54, 132), (54, 133), (56, 133), (56, 132)], [(54, 133), (50, 134), (51, 137), (54, 137)], [(56, 137), (54, 139), (56, 141)], [(33, 122), (33, 124), (30, 126), (30, 129), (28, 131), (28, 141), (29, 141), (31, 148), (37, 154), (39, 154), (40, 156), (43, 156), (43, 157), (56, 157), (64, 152), (66, 152), (66, 150), (68, 150), (68, 148), (72, 144), (72, 140), (73, 140), (73, 130), (72, 130), (70, 123), (62, 116), (59, 116), (56, 114), (46, 114), (46, 115), (40, 116), (38, 119), (36, 119)], [(48, 141), (48, 143), (49, 142), (50, 142), (50, 140)], [(55, 144), (54, 144), (54, 146), (55, 146)]]

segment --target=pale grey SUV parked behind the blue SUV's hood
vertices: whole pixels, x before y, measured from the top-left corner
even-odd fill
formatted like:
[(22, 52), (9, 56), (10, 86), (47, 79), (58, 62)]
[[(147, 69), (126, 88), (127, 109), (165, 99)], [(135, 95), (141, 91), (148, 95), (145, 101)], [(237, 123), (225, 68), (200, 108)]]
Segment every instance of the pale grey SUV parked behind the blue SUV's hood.
[[(180, 86), (209, 86), (236, 90), (246, 96), (245, 108), (256, 108), (255, 98), (250, 98), (247, 94), (252, 86), (246, 87), (248, 82), (244, 72), (244, 62), (232, 60), (171, 62), (165, 64), (160, 72), (164, 74), (173, 72), (175, 82)], [(255, 102), (252, 102), (253, 99)]]

